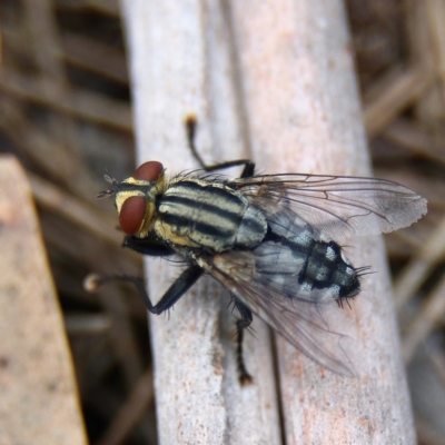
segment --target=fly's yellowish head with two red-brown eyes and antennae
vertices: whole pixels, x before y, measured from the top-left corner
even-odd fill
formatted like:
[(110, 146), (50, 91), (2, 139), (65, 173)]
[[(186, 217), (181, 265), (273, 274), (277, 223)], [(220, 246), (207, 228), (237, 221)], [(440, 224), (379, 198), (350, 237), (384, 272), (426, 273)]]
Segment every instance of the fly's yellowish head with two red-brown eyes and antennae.
[(119, 182), (105, 176), (111, 189), (98, 195), (98, 198), (111, 196), (119, 214), (119, 225), (127, 235), (145, 238), (151, 229), (156, 216), (156, 198), (166, 188), (162, 164), (148, 161), (142, 164), (130, 178)]

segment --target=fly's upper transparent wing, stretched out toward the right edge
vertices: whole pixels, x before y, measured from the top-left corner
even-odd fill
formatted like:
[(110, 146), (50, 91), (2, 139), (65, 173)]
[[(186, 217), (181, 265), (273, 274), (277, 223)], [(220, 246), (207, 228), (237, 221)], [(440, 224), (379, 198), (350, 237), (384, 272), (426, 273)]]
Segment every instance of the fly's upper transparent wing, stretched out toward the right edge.
[(375, 178), (265, 175), (231, 181), (253, 205), (290, 208), (334, 239), (407, 227), (426, 214), (426, 199), (399, 184)]

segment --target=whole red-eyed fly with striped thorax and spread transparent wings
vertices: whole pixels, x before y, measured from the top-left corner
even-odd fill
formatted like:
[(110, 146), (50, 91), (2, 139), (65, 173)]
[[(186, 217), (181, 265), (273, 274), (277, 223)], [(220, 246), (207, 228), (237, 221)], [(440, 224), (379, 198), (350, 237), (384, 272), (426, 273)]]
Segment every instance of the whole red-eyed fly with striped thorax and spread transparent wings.
[[(407, 227), (426, 214), (426, 200), (399, 184), (375, 178), (318, 175), (255, 176), (243, 159), (206, 166), (194, 145), (196, 120), (187, 120), (191, 151), (205, 175), (167, 178), (157, 161), (142, 164), (123, 181), (106, 176), (126, 234), (123, 245), (140, 254), (178, 256), (188, 266), (158, 304), (141, 278), (95, 276), (136, 285), (152, 314), (169, 309), (207, 273), (238, 309), (237, 363), (241, 383), (251, 379), (243, 357), (244, 330), (253, 314), (298, 350), (343, 375), (355, 375), (342, 349), (342, 335), (329, 332), (320, 307), (343, 307), (360, 291), (360, 276), (339, 241)], [(238, 179), (209, 172), (244, 166)], [(328, 343), (328, 344), (327, 344)]]

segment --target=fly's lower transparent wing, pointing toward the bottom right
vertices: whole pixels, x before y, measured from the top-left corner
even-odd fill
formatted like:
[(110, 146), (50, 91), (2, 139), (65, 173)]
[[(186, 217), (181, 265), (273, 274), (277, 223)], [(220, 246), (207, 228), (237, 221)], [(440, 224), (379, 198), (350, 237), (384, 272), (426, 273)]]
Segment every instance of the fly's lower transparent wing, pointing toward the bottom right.
[(298, 350), (322, 366), (355, 376), (342, 340), (346, 336), (329, 329), (324, 312), (340, 312), (326, 289), (305, 291), (298, 283), (300, 264), (291, 251), (275, 243), (263, 243), (251, 251), (227, 251), (200, 259), (214, 278), (245, 303)]

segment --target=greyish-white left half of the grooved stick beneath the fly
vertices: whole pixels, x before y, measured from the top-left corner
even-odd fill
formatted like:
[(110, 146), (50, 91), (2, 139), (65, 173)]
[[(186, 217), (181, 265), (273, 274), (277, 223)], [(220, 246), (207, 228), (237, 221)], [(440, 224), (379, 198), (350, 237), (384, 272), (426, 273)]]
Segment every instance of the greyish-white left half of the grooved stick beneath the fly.
[[(184, 121), (198, 119), (197, 146), (208, 164), (246, 156), (228, 26), (220, 6), (198, 1), (123, 1), (134, 79), (139, 160), (167, 174), (197, 168)], [(210, 151), (211, 150), (211, 151)], [(149, 263), (157, 300), (179, 274)], [(151, 317), (155, 389), (161, 444), (278, 444), (279, 419), (268, 329), (246, 335), (254, 384), (238, 384), (228, 293), (211, 279), (182, 297), (169, 316)], [(220, 314), (229, 316), (222, 322)]]

